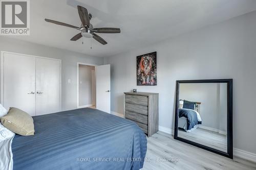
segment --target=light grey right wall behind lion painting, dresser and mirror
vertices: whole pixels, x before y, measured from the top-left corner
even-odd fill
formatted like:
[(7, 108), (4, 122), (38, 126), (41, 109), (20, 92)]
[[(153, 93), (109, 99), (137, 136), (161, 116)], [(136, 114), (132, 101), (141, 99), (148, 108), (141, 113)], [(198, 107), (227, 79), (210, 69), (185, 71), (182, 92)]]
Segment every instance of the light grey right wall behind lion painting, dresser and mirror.
[[(159, 125), (174, 129), (176, 80), (233, 79), (234, 148), (256, 153), (256, 12), (151, 46), (105, 58), (111, 64), (111, 110), (123, 112), (123, 92), (159, 93)], [(161, 32), (159, 32), (161, 34)], [(138, 35), (139, 36), (139, 35)], [(136, 56), (157, 51), (157, 86), (136, 86)]]

